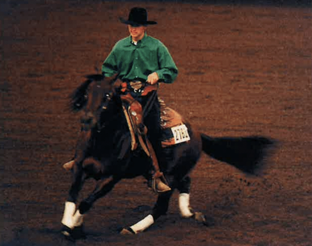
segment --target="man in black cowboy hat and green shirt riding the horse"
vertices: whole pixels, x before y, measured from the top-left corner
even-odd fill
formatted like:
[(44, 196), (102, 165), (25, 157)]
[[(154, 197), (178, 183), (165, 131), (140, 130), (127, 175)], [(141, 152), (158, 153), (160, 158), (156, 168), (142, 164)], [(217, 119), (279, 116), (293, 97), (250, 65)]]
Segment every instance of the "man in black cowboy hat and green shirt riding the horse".
[[(159, 82), (173, 83), (178, 69), (163, 43), (146, 34), (147, 26), (157, 22), (147, 20), (147, 12), (144, 8), (132, 8), (128, 20), (120, 18), (120, 21), (128, 25), (130, 36), (115, 44), (102, 65), (102, 73), (105, 77), (118, 73), (118, 78), (124, 82), (124, 95), (121, 99), (125, 116), (132, 122), (132, 125), (128, 124), (130, 131), (136, 129), (139, 135), (147, 135), (145, 140), (147, 143), (141, 145), (147, 146), (145, 152), (152, 158), (151, 175), (153, 175), (154, 189), (157, 192), (167, 192), (171, 188), (166, 184), (157, 161), (157, 159), (161, 160), (160, 110), (157, 94), (156, 91), (148, 94), (142, 92), (145, 83), (154, 86)], [(139, 103), (144, 112), (145, 107), (149, 108), (145, 117), (139, 116), (144, 122), (133, 123), (133, 117), (138, 119), (137, 114), (142, 112), (139, 110), (130, 113), (129, 107), (134, 102)], [(132, 149), (134, 148), (132, 146)]]

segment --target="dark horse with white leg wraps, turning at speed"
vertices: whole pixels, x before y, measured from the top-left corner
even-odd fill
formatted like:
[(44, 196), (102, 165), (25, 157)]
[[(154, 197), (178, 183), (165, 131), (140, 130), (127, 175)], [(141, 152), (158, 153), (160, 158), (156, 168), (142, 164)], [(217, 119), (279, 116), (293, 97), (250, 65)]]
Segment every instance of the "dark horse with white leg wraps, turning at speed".
[[(73, 182), (65, 203), (62, 233), (68, 238), (79, 238), (83, 216), (93, 203), (112, 190), (124, 178), (148, 177), (151, 158), (138, 147), (131, 151), (131, 136), (120, 100), (121, 82), (116, 77), (86, 76), (87, 80), (71, 97), (73, 111), (82, 111), (81, 131), (73, 161), (66, 163), (73, 172)], [(182, 217), (192, 217), (206, 223), (205, 216), (189, 207), (189, 173), (197, 163), (202, 150), (213, 158), (226, 162), (242, 172), (259, 174), (264, 166), (263, 157), (273, 141), (258, 136), (238, 138), (211, 138), (193, 130), (188, 122), (190, 140), (163, 148), (158, 157), (171, 191), (159, 194), (150, 215), (122, 233), (136, 234), (154, 223), (168, 210), (169, 199), (175, 189), (179, 192)], [(87, 178), (97, 180), (94, 191), (80, 202), (76, 200)]]

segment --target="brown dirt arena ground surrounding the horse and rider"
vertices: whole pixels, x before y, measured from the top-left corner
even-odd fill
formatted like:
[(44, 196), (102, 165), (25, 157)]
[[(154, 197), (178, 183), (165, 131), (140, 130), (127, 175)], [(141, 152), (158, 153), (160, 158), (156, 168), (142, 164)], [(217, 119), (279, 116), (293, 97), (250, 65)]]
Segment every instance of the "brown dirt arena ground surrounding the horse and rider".
[[(73, 245), (60, 234), (79, 116), (66, 109), (82, 76), (128, 35), (118, 17), (146, 7), (148, 34), (179, 75), (160, 96), (201, 132), (279, 141), (261, 178), (202, 155), (191, 205), (213, 226), (168, 215), (118, 234), (156, 199), (144, 180), (117, 184), (86, 216), (76, 245), (308, 246), (312, 237), (311, 7), (177, 2), (4, 1), (1, 4), (0, 245)], [(85, 185), (82, 196), (93, 188)]]

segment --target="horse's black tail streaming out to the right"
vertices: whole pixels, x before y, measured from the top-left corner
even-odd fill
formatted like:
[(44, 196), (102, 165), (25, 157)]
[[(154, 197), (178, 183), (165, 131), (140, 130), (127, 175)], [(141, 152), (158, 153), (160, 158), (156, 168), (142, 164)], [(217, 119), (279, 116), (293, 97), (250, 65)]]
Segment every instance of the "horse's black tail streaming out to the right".
[(247, 174), (261, 175), (274, 140), (261, 136), (212, 138), (201, 134), (202, 150)]

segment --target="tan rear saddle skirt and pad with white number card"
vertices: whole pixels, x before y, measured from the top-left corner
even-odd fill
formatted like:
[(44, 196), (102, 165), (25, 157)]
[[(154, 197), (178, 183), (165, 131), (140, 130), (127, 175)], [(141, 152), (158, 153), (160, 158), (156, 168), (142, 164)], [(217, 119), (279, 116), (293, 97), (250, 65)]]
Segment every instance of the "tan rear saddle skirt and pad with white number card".
[(190, 140), (189, 131), (184, 124), (183, 117), (173, 109), (166, 106), (163, 100), (158, 99), (160, 104), (161, 121), (161, 145), (163, 148), (188, 142)]

